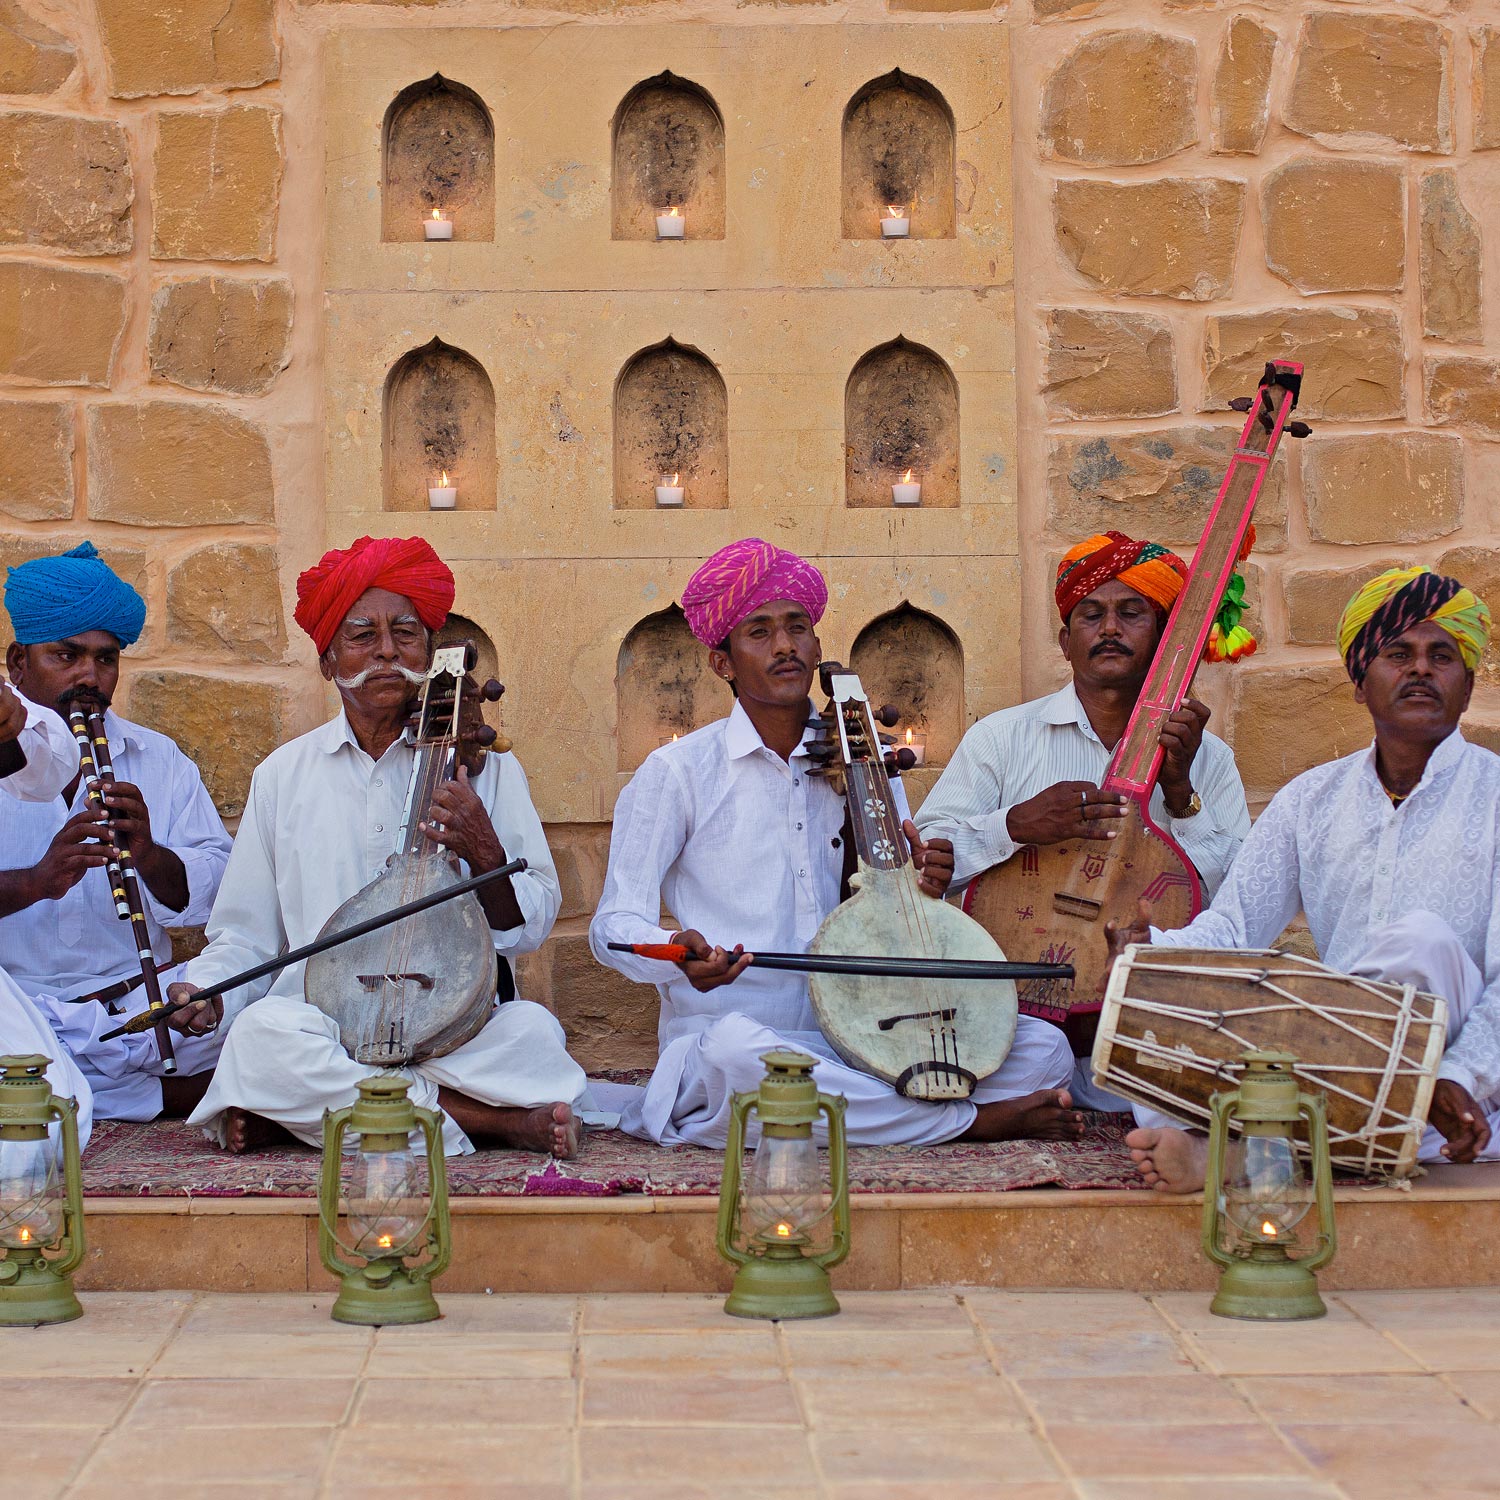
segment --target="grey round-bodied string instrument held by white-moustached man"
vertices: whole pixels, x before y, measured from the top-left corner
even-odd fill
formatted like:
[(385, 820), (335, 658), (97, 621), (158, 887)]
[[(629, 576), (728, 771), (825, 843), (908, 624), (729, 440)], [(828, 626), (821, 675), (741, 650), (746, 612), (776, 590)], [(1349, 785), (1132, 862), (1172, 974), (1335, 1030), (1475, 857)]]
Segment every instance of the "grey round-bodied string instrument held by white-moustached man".
[[(474, 662), (468, 644), (434, 652), (411, 729), (416, 758), (396, 852), (324, 922), (320, 938), (462, 880), (423, 824), (435, 822), (432, 798), (458, 771), (465, 698), (477, 692), (494, 702), (504, 692), (494, 681), (476, 690), (468, 681)], [(510, 747), (492, 729), (478, 732), (482, 742), (486, 736), (501, 750)], [(332, 950), (316, 954), (304, 970), (303, 992), (338, 1022), (339, 1040), (356, 1062), (398, 1068), (440, 1058), (478, 1035), (495, 1004), (495, 964), (489, 920), (470, 891), (340, 945), (336, 957)]]

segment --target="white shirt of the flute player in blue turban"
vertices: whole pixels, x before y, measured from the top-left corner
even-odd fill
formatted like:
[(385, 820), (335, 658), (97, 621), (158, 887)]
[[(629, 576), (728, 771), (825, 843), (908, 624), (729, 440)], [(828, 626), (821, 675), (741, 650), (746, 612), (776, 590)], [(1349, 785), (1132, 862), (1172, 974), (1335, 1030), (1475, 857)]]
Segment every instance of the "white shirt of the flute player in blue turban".
[[(166, 735), (132, 724), (112, 710), (105, 712), (104, 726), (116, 780), (140, 788), (152, 816), (152, 838), (182, 860), (188, 876), (188, 904), (182, 910), (164, 906), (146, 880), (140, 882), (152, 951), (158, 963), (165, 963), (172, 956), (166, 928), (201, 927), (208, 920), (230, 858), (230, 836), (198, 768)], [(70, 732), (68, 738), (72, 744), (70, 780), (78, 774), (78, 742)], [(70, 804), (54, 794), (48, 802), (6, 807), (0, 818), (0, 868), (24, 870), (36, 864), (63, 824), (87, 804), (88, 789), (80, 778)], [(141, 972), (130, 924), (116, 914), (104, 870), (87, 870), (56, 902), (36, 902), (0, 918), (0, 954), (10, 978), (27, 994), (60, 999), (87, 994)]]

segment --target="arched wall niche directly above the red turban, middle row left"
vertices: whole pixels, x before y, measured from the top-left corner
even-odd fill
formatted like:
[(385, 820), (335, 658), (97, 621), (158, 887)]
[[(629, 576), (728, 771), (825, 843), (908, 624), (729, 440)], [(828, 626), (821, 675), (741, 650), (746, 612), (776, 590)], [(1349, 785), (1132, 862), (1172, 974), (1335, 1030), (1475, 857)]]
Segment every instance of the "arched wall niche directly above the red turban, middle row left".
[(459, 510), (495, 508), (495, 388), (472, 354), (434, 339), (386, 376), (386, 510), (426, 510), (442, 470)]

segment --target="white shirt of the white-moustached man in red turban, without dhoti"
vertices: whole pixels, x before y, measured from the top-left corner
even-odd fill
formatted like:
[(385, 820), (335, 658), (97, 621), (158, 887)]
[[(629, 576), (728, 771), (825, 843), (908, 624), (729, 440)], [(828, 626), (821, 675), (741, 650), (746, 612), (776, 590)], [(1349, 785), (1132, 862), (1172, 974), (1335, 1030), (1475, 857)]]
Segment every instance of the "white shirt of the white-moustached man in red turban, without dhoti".
[[(380, 760), (354, 738), (340, 711), (310, 734), (273, 750), (250, 777), (244, 818), (208, 920), (208, 946), (183, 978), (200, 987), (312, 942), (351, 896), (369, 885), (400, 842), (416, 752), (404, 736)], [(506, 957), (540, 948), (562, 904), (552, 852), (531, 806), (526, 774), (513, 754), (489, 754), (470, 783), (510, 860), (525, 918), (494, 932)], [(304, 964), (282, 969), (225, 996), (232, 1014), (262, 994), (303, 999)]]

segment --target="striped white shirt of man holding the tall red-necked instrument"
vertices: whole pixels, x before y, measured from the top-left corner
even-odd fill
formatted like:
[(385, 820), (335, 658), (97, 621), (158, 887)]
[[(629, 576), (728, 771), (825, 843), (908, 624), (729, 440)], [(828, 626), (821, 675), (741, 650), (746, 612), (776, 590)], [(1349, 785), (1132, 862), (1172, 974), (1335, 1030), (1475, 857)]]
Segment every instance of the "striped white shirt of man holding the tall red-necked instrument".
[[(1110, 754), (1068, 682), (972, 724), (927, 794), (916, 826), (924, 838), (952, 840), (954, 885), (966, 885), (1022, 848), (1005, 826), (1017, 802), (1059, 782), (1098, 786)], [(1150, 794), (1150, 816), (1182, 846), (1212, 894), (1250, 832), (1234, 754), (1218, 735), (1203, 735), (1192, 758), (1192, 789), (1203, 802), (1192, 818), (1172, 818), (1160, 786)]]

